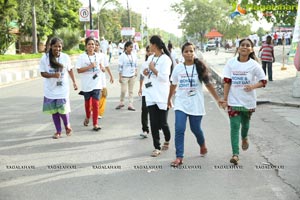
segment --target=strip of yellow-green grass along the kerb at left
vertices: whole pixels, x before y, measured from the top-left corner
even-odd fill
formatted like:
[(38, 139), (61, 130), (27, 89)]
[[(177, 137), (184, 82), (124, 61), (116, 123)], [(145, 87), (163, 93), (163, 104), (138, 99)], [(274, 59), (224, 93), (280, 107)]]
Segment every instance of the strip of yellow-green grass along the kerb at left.
[[(80, 54), (83, 51), (81, 50), (70, 50), (64, 51), (64, 53), (68, 55), (76, 55)], [(0, 55), (0, 62), (2, 61), (12, 61), (12, 60), (26, 60), (26, 59), (37, 59), (41, 58), (43, 53), (36, 53), (36, 54), (16, 54), (16, 55)]]

